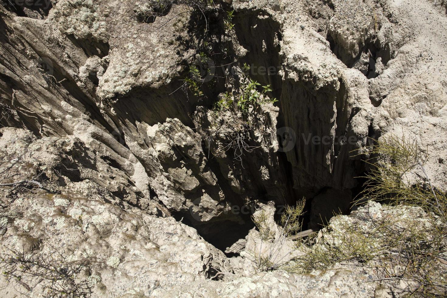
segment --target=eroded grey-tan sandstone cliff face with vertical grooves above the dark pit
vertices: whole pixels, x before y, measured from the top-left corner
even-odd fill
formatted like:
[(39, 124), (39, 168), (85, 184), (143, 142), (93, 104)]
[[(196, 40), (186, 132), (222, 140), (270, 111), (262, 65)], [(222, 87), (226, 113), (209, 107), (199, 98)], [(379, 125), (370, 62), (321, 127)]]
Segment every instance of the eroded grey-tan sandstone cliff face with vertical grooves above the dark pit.
[[(235, 0), (207, 12), (174, 4), (155, 20), (144, 17), (147, 4), (132, 1), (4, 2), (4, 162), (17, 158), (20, 180), (39, 178), (53, 191), (141, 218), (183, 218), (222, 250), (253, 227), (249, 212), (234, 206), (286, 205), (304, 196), (310, 227), (320, 215), (348, 212), (361, 185), (355, 177), (368, 170), (357, 155), (368, 137), (416, 140), (430, 153), (431, 183), (445, 189), (447, 7), (438, 2)], [(215, 77), (198, 97), (185, 78), (203, 49), (213, 53)], [(212, 107), (223, 92), (237, 92), (244, 72), (269, 84), (268, 96), (278, 101), (262, 107), (253, 150), (226, 151), (228, 137), (220, 135), (213, 141), (223, 154), (216, 154)], [(76, 196), (69, 206), (80, 200), (93, 208)], [(66, 217), (67, 208), (57, 216)], [(171, 219), (160, 222), (172, 228)], [(120, 222), (117, 229), (126, 225)], [(143, 223), (134, 225), (139, 231)], [(220, 254), (200, 241), (199, 254)], [(212, 259), (185, 272), (231, 270), (224, 262), (210, 269)]]

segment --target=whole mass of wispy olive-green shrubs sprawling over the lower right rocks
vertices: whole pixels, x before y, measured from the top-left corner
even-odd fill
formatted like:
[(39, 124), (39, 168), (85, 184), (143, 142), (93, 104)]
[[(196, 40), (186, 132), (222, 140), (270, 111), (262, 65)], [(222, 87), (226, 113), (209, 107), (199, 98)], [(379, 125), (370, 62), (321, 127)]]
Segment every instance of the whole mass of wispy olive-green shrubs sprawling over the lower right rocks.
[[(365, 231), (346, 217), (334, 218), (316, 244), (303, 243), (309, 252), (295, 257), (287, 270), (305, 273), (337, 262), (361, 263), (374, 269), (379, 281), (405, 281), (401, 294), (445, 297), (447, 200), (432, 187), (423, 168), (427, 152), (410, 139), (390, 136), (376, 141), (369, 153), (372, 168), (363, 195), (396, 206), (384, 208), (397, 211), (384, 218), (364, 218), (371, 225)], [(414, 170), (424, 173), (428, 185), (409, 180)]]

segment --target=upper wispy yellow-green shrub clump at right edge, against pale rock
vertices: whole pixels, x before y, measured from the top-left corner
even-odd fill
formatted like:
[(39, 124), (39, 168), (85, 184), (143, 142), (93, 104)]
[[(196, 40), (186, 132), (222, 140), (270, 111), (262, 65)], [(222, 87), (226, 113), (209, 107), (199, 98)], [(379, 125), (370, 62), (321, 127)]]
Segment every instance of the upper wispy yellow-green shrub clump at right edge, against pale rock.
[[(428, 151), (421, 150), (417, 142), (391, 135), (375, 140), (369, 150), (371, 171), (366, 175), (367, 183), (363, 197), (375, 201), (393, 204), (422, 206), (427, 211), (446, 217), (446, 193), (434, 189), (430, 177), (427, 176), (424, 164), (428, 159)], [(415, 170), (422, 172), (421, 184), (411, 180)]]

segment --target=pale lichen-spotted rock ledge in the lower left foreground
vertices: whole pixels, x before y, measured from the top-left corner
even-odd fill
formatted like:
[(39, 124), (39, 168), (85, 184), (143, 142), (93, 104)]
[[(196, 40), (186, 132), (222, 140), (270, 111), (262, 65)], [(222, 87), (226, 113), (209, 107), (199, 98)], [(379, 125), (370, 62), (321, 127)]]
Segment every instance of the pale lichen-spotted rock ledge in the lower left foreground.
[[(27, 272), (30, 276), (24, 274), (21, 279), (32, 289), (28, 292), (32, 296), (48, 293), (45, 287), (51, 280), (42, 276), (44, 280), (39, 282), (32, 270), (38, 272), (50, 256), (54, 264), (80, 269), (78, 285), (93, 292), (93, 297), (151, 297), (160, 293), (160, 288), (192, 283), (231, 269), (223, 252), (174, 218), (156, 218), (136, 208), (124, 211), (70, 193), (35, 196), (32, 200), (18, 197), (10, 208), (17, 215), (7, 216), (11, 223), (2, 237), (0, 253), (5, 258), (10, 249), (23, 253), (25, 260), (30, 254), (41, 257), (42, 264), (36, 264)], [(7, 296), (13, 293), (17, 291), (3, 292)]]

